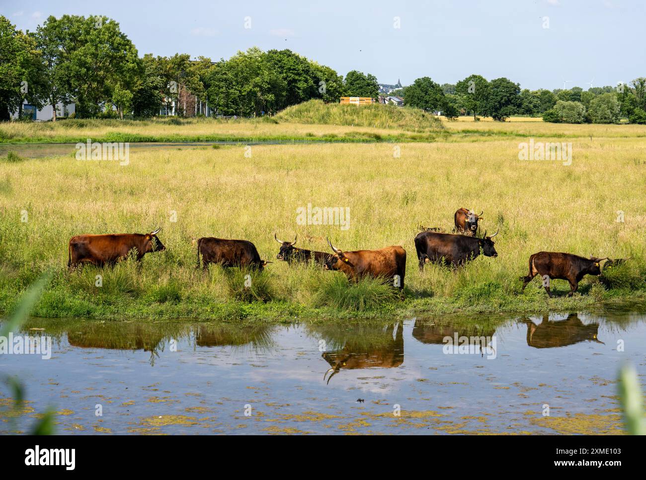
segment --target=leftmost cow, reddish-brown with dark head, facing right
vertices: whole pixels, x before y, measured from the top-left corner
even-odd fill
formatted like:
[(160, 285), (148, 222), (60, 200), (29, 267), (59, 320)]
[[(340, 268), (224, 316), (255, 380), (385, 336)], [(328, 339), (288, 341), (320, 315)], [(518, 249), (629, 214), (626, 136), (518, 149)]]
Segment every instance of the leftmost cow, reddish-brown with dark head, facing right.
[(118, 233), (115, 235), (75, 235), (68, 245), (67, 266), (74, 267), (92, 264), (98, 267), (114, 265), (126, 258), (130, 251), (136, 251), (136, 259), (141, 260), (150, 252), (165, 250), (157, 238), (160, 229), (151, 233)]

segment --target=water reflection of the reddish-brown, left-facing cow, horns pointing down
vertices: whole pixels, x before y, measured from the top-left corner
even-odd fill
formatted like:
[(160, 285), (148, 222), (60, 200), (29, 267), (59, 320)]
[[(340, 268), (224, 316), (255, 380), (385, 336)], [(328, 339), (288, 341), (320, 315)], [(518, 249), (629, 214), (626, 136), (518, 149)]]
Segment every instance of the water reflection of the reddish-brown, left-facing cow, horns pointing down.
[[(349, 340), (341, 350), (326, 351), (323, 358), (329, 363), (330, 368), (323, 375), (329, 381), (339, 370), (353, 370), (357, 368), (395, 368), (404, 362), (404, 326), (397, 323), (394, 327), (389, 325), (380, 333), (375, 341), (366, 342), (365, 339)], [(393, 338), (394, 337), (394, 338)]]

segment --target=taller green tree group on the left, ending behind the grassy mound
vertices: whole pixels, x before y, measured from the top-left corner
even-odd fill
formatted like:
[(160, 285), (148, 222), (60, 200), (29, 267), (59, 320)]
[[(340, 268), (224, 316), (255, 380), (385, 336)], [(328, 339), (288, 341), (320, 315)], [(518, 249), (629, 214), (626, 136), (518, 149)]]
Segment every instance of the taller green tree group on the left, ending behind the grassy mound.
[(22, 32), (0, 16), (0, 120), (21, 116), (25, 101), (37, 108), (74, 102), (79, 118), (149, 117), (171, 105), (182, 116), (187, 112), (178, 100), (189, 93), (215, 114), (257, 116), (313, 98), (338, 102), (378, 91), (371, 74), (353, 70), (343, 78), (287, 49), (249, 48), (220, 61), (140, 57), (105, 16), (50, 16), (36, 32)]

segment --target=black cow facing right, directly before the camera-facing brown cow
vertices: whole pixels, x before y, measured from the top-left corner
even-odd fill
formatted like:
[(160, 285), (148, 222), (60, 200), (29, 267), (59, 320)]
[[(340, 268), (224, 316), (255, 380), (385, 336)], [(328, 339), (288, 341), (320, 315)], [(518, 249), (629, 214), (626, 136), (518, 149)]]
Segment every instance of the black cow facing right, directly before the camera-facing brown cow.
[(483, 238), (477, 238), (451, 233), (421, 232), (415, 237), (419, 269), (424, 269), (427, 260), (453, 267), (464, 265), (480, 255), (481, 250), (485, 256), (498, 256), (492, 240), (496, 235), (498, 232), (492, 236), (486, 236), (485, 232)]

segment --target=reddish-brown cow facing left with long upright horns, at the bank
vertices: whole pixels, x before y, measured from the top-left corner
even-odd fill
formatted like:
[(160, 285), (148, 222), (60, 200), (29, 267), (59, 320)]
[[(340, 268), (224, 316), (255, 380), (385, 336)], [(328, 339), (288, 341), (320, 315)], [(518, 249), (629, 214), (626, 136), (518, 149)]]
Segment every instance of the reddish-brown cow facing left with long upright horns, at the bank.
[(394, 279), (399, 276), (398, 286), (404, 288), (404, 275), (406, 275), (406, 250), (400, 245), (382, 248), (379, 250), (357, 250), (344, 252), (328, 239), (328, 245), (336, 255), (326, 261), (326, 270), (342, 271), (348, 278), (358, 281), (369, 275), (370, 277)]

